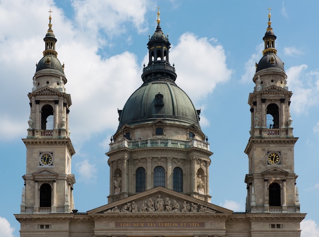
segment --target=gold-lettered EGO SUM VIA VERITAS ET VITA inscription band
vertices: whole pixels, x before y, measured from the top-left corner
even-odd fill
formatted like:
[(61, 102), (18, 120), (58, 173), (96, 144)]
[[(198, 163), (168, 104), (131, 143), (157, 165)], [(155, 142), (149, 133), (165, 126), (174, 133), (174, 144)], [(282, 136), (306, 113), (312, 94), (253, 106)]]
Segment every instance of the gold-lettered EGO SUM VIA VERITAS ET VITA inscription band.
[(117, 228), (202, 228), (205, 222), (115, 222)]

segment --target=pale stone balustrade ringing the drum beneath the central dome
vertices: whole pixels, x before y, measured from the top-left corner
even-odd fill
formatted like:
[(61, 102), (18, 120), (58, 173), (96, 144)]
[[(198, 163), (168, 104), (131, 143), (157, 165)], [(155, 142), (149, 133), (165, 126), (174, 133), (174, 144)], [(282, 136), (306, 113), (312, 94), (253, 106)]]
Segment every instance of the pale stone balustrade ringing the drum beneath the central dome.
[(110, 150), (116, 150), (123, 147), (130, 149), (144, 148), (144, 147), (174, 147), (181, 149), (188, 149), (191, 147), (198, 147), (204, 150), (209, 150), (207, 142), (200, 140), (175, 140), (175, 139), (146, 139), (138, 141), (123, 140), (121, 142), (113, 142), (110, 144)]

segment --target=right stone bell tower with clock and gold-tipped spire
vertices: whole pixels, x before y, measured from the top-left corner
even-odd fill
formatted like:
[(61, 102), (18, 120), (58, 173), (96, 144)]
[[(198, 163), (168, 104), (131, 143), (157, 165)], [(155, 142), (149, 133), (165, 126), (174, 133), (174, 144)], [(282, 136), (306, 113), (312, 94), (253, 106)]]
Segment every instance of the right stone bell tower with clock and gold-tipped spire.
[[(270, 10), (270, 9), (269, 9)], [(277, 56), (269, 13), (263, 37), (263, 57), (256, 63), (253, 93), (249, 94), (251, 130), (245, 153), (249, 159), (246, 175), (248, 213), (300, 213), (290, 97), (284, 63)]]

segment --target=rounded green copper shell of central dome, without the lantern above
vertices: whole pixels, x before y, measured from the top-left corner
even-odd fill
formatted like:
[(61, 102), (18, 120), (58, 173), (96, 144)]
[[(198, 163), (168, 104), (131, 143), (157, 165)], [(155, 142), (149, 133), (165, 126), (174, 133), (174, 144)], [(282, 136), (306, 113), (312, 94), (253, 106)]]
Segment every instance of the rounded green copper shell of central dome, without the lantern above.
[(145, 124), (157, 119), (180, 125), (195, 124), (200, 129), (191, 99), (169, 81), (154, 81), (137, 89), (125, 103), (118, 129), (124, 124)]

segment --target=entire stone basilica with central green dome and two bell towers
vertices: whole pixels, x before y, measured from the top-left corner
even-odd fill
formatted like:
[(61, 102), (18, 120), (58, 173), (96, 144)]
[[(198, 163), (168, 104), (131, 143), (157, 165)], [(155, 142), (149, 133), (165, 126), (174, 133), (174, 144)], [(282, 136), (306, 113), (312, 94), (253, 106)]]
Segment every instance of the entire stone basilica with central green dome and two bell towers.
[[(178, 86), (169, 61), (170, 42), (157, 25), (147, 42), (148, 64), (141, 86), (118, 110), (107, 151), (108, 203), (85, 213), (74, 207), (75, 150), (69, 134), (71, 95), (57, 38), (49, 29), (43, 58), (33, 77), (20, 236), (61, 237), (299, 237), (300, 213), (290, 97), (284, 64), (277, 56), (271, 14), (264, 49), (248, 95), (251, 127), (245, 148), (249, 173), (245, 212), (211, 203), (210, 151), (200, 126), (200, 110)], [(247, 111), (249, 113), (249, 111)], [(51, 124), (48, 124), (51, 118)], [(249, 129), (249, 128), (247, 128)]]

